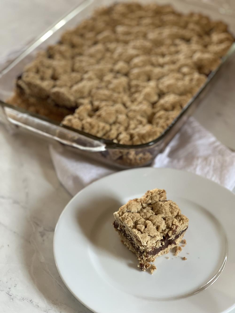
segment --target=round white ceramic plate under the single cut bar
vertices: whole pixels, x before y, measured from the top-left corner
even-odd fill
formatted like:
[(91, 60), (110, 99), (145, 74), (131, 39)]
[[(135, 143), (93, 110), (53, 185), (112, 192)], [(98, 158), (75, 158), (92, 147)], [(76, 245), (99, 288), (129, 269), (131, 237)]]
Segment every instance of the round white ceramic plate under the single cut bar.
[[(156, 259), (150, 275), (112, 226), (113, 212), (163, 188), (189, 218), (178, 257)], [(197, 175), (138, 168), (104, 177), (79, 192), (55, 229), (55, 262), (65, 285), (97, 313), (222, 313), (235, 305), (235, 195)], [(184, 261), (181, 257), (186, 257)]]

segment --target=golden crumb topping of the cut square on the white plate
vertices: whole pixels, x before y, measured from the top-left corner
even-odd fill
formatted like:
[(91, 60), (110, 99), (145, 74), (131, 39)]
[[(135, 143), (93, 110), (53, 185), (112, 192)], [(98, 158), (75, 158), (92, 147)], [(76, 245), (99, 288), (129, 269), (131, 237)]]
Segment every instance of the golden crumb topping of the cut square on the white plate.
[(163, 189), (149, 190), (143, 197), (129, 200), (114, 216), (147, 247), (156, 246), (166, 234), (173, 238), (188, 226), (188, 218), (175, 202), (166, 200)]

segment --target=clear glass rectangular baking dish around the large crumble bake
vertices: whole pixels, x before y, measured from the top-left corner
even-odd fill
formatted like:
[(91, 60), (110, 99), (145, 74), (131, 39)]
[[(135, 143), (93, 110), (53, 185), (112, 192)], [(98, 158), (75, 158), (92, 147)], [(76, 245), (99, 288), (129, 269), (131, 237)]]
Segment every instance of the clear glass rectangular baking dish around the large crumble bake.
[[(72, 149), (87, 157), (105, 162), (109, 165), (115, 165), (119, 168), (140, 167), (149, 165), (154, 157), (169, 143), (175, 136), (180, 127), (185, 123), (187, 118), (192, 115), (197, 105), (199, 105), (202, 97), (212, 84), (212, 78), (218, 69), (223, 67), (226, 60), (235, 51), (235, 44), (222, 59), (222, 63), (213, 72), (211, 72), (206, 83), (201, 87), (197, 94), (188, 102), (181, 111), (180, 115), (172, 122), (172, 124), (154, 141), (141, 145), (122, 145), (114, 143), (75, 130), (68, 126), (62, 126), (59, 122), (49, 120), (40, 115), (29, 113), (26, 110), (7, 104), (5, 101), (13, 94), (15, 79), (22, 73), (26, 64), (34, 59), (35, 54), (45, 49), (50, 44), (55, 44), (61, 34), (75, 27), (83, 19), (89, 17), (92, 11), (98, 6), (111, 5), (115, 1), (112, 0), (84, 0), (78, 7), (69, 14), (56, 22), (43, 35), (39, 36), (27, 49), (24, 50), (11, 64), (9, 64), (0, 74), (0, 121), (2, 121), (9, 129), (18, 127), (28, 131), (37, 133), (60, 142), (66, 148)], [(124, 2), (124, 1), (122, 1)], [(140, 1), (146, 3), (147, 1)], [(153, 0), (148, 1), (153, 2)], [(172, 3), (178, 11), (186, 13), (189, 11), (203, 12), (213, 19), (224, 20), (230, 26), (230, 31), (235, 33), (234, 8), (235, 5), (231, 1), (210, 1), (210, 0), (179, 0), (179, 1), (156, 1), (159, 4)]]

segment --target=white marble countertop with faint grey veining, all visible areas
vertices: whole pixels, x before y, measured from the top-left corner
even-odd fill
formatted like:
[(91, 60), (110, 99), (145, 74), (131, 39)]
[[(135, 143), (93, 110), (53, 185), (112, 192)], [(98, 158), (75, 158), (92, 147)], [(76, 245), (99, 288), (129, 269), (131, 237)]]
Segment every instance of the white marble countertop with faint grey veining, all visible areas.
[[(77, 3), (2, 0), (0, 58), (22, 47)], [(231, 62), (195, 113), (233, 150), (234, 72), (235, 62)], [(55, 224), (71, 197), (56, 177), (48, 143), (30, 134), (10, 135), (0, 125), (0, 145), (0, 312), (90, 312), (66, 289), (53, 258)]]

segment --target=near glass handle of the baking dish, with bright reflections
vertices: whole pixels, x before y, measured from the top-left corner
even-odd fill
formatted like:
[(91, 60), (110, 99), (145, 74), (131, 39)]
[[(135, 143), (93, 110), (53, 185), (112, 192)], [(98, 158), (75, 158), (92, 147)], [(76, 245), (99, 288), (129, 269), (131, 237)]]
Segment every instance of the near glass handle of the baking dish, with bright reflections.
[(35, 116), (19, 112), (7, 104), (0, 101), (0, 117), (3, 124), (9, 128), (11, 125), (16, 128), (22, 127), (29, 131), (33, 131), (41, 136), (59, 141), (62, 144), (78, 148), (82, 151), (99, 152), (106, 150), (106, 144), (80, 134), (79, 132), (52, 124), (46, 119), (39, 119)]

